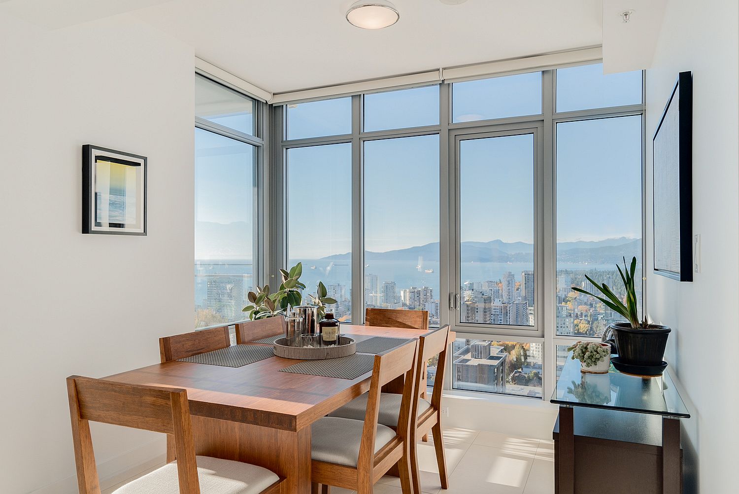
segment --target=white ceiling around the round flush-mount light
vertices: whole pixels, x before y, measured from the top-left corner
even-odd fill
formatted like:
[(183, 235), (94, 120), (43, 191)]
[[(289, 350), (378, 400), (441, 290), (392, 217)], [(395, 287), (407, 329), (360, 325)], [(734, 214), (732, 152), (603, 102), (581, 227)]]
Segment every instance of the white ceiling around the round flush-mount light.
[(344, 16), (353, 1), (174, 0), (132, 15), (270, 92), (602, 42), (602, 0), (394, 0), (401, 19), (384, 30), (349, 24)]

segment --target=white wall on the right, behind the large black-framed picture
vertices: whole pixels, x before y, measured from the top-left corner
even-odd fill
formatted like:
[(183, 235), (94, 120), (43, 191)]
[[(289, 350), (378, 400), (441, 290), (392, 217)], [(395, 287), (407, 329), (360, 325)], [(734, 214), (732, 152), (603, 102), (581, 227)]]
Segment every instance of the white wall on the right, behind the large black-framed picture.
[(728, 0), (671, 0), (647, 70), (647, 175), (651, 138), (678, 72), (693, 72), (693, 231), (701, 234), (701, 272), (691, 283), (647, 275), (650, 317), (672, 327), (667, 359), (694, 417), (684, 421), (682, 438), (687, 493), (738, 489), (738, 8)]

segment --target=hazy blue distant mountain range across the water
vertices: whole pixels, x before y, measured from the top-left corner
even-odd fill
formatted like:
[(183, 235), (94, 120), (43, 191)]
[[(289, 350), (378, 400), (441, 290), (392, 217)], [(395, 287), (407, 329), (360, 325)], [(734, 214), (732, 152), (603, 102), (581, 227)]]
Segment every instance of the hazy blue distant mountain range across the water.
[[(560, 242), (556, 244), (556, 260), (563, 263), (615, 264), (622, 257), (632, 257), (641, 252), (641, 240), (627, 237), (608, 238), (588, 242)], [(439, 260), (439, 243), (402, 248), (395, 251), (367, 251), (367, 261), (394, 260), (415, 261), (418, 257), (429, 263)], [(489, 242), (463, 242), (460, 248), (463, 263), (526, 263), (534, 260), (534, 244), (524, 242), (507, 243), (503, 240)], [(324, 257), (326, 260), (349, 260), (351, 254)]]

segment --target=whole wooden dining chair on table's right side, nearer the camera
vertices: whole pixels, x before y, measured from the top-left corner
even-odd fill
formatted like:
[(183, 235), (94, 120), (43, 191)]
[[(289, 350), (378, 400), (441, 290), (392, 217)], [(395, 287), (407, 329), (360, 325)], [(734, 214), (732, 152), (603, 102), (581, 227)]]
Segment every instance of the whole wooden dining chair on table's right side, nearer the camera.
[[(371, 494), (372, 486), (393, 466), (398, 466), (403, 494), (412, 493), (410, 441), (418, 339), (375, 355), (362, 420), (327, 416), (311, 426), (311, 482), (313, 493), (322, 485)], [(398, 376), (405, 377), (395, 430), (378, 424), (381, 388)]]

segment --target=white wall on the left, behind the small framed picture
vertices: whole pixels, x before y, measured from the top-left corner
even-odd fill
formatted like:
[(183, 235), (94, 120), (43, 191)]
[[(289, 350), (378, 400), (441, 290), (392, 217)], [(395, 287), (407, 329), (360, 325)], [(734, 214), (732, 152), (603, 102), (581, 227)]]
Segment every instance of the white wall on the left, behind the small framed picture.
[[(64, 379), (158, 362), (157, 338), (191, 328), (193, 58), (125, 15), (50, 31), (0, 13), (2, 493), (76, 492)], [(86, 143), (149, 158), (148, 236), (80, 233)], [(163, 453), (93, 434), (106, 477)]]

